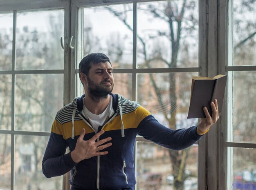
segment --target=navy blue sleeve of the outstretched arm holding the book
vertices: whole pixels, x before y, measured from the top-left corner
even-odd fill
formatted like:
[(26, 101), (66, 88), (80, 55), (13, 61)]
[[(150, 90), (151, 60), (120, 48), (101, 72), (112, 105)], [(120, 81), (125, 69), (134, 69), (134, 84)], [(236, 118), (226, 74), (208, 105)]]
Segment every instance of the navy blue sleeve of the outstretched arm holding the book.
[(139, 123), (138, 134), (165, 148), (182, 150), (201, 139), (196, 129), (197, 126), (187, 129), (171, 130), (160, 124), (154, 116), (149, 115)]

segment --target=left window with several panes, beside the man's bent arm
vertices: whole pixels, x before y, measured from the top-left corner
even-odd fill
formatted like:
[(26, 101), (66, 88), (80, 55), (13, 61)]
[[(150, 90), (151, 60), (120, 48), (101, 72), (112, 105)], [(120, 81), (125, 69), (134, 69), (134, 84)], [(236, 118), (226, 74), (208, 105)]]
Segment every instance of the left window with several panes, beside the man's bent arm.
[(63, 106), (64, 10), (0, 13), (0, 189), (61, 190), (41, 164)]

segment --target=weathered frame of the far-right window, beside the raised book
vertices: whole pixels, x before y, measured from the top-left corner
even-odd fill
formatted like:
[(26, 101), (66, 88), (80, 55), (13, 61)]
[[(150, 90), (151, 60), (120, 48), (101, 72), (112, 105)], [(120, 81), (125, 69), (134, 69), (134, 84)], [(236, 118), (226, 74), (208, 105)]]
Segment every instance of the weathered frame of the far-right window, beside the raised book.
[[(232, 71), (256, 71), (256, 65), (245, 65), (245, 66), (234, 66), (233, 64), (233, 2), (234, 0), (220, 0), (220, 27), (219, 27), (219, 64), (220, 69), (225, 72)], [(222, 35), (221, 35), (222, 34)], [(225, 35), (223, 35), (225, 34)], [(222, 63), (222, 64), (221, 64)], [(223, 64), (225, 63), (225, 64)], [(255, 63), (256, 64), (256, 63)], [(233, 151), (228, 148), (250, 148), (256, 150), (256, 143), (240, 143), (240, 142), (231, 142), (231, 136), (228, 134), (229, 130), (232, 129), (233, 112), (228, 112), (233, 107), (231, 103), (233, 102), (232, 96), (232, 86), (233, 86), (233, 76), (227, 81), (227, 90), (226, 100), (225, 100), (225, 117), (222, 121), (222, 125), (225, 126), (220, 128), (219, 132), (219, 144), (220, 144), (220, 161), (219, 161), (219, 189), (232, 189), (232, 160), (233, 160)], [(229, 93), (228, 93), (229, 92)], [(228, 100), (229, 99), (229, 105)], [(224, 152), (222, 152), (224, 150)]]

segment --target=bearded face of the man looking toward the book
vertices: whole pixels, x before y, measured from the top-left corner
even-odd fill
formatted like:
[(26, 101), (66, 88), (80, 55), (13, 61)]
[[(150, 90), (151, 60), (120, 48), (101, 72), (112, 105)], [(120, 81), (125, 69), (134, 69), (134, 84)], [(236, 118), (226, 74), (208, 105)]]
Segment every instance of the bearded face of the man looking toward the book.
[(92, 65), (87, 77), (87, 89), (92, 97), (105, 98), (114, 87), (112, 67), (107, 61)]

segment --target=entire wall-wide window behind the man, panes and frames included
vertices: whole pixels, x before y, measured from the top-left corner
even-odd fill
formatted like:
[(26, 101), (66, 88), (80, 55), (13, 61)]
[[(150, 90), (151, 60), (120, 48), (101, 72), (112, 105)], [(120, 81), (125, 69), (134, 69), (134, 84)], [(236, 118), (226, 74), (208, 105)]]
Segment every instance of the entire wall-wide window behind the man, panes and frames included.
[(84, 93), (78, 63), (102, 52), (113, 92), (172, 129), (198, 122), (186, 119), (191, 76), (228, 75), (218, 126), (198, 144), (171, 151), (137, 137), (137, 190), (254, 190), (255, 9), (254, 0), (1, 1), (0, 189), (68, 189), (43, 176), (43, 153), (56, 112)]

